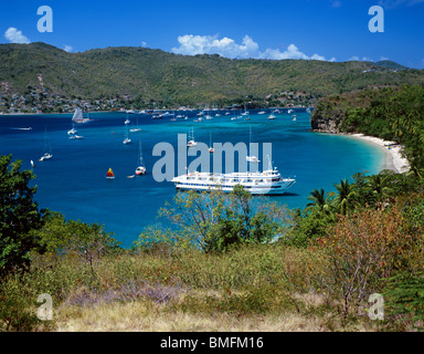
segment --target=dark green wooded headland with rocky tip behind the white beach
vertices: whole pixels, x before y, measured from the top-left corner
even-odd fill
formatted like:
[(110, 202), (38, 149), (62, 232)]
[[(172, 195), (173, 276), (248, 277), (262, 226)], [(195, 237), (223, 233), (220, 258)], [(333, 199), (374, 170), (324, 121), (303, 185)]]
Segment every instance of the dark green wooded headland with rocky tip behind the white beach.
[(315, 131), (362, 133), (404, 146), (411, 170), (424, 173), (424, 85), (384, 87), (321, 98), (311, 116)]

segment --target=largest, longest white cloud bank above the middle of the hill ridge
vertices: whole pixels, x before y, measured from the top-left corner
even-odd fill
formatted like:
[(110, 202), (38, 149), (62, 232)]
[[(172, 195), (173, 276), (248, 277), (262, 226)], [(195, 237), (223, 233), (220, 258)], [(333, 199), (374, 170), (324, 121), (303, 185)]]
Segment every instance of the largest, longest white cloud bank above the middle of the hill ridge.
[[(186, 34), (178, 38), (180, 46), (172, 48), (176, 54), (197, 55), (197, 54), (220, 54), (230, 59), (305, 59), (305, 60), (321, 60), (326, 59), (322, 55), (314, 54), (311, 56), (301, 52), (295, 44), (287, 46), (285, 51), (279, 49), (266, 49), (259, 51), (259, 44), (252, 38), (245, 35), (241, 44), (237, 44), (233, 39), (224, 37), (219, 39), (218, 35), (193, 35)], [(330, 61), (336, 61), (332, 58)]]

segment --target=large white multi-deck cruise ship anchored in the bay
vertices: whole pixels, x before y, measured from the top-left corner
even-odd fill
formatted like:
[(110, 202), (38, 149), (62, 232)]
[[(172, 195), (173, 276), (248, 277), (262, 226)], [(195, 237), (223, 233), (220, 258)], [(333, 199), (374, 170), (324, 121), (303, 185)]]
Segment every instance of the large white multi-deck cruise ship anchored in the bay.
[(252, 195), (282, 195), (296, 183), (295, 179), (283, 178), (276, 168), (262, 173), (212, 174), (194, 171), (174, 177), (172, 181), (177, 189), (198, 191), (221, 189), (224, 192), (231, 192), (234, 186), (242, 185)]

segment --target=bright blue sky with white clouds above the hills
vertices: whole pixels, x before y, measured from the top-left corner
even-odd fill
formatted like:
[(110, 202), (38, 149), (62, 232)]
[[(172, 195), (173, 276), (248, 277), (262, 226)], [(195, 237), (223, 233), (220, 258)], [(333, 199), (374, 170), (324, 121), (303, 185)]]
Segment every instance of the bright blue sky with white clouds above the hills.
[[(147, 46), (227, 58), (393, 60), (424, 67), (424, 0), (0, 0), (0, 43), (45, 42), (71, 52)], [(40, 6), (53, 10), (41, 33)], [(371, 33), (369, 9), (384, 10)]]

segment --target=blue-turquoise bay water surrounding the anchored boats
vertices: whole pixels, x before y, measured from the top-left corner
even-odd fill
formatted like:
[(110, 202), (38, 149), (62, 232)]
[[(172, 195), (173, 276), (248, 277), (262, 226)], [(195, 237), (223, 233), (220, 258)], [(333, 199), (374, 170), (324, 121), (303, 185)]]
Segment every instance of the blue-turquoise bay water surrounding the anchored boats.
[[(296, 111), (296, 122), (287, 110), (275, 114), (274, 121), (267, 119), (269, 113), (257, 112), (251, 112), (251, 121), (231, 121), (220, 112), (222, 116), (200, 123), (194, 122), (198, 111), (177, 122), (129, 115), (130, 128), (137, 121), (141, 128), (130, 133), (130, 145), (123, 144), (125, 113), (91, 114), (94, 122), (77, 126), (78, 135), (84, 136), (81, 140), (68, 139), (66, 134), (72, 114), (4, 115), (0, 116), (0, 155), (13, 154), (13, 159), (23, 160), (23, 168), (31, 168), (31, 159), (35, 163), (35, 200), (41, 208), (60, 211), (68, 219), (105, 225), (124, 247), (130, 247), (145, 227), (158, 222), (159, 208), (176, 195), (172, 183), (157, 183), (151, 175), (160, 158), (152, 156), (153, 146), (167, 142), (177, 150), (178, 134), (188, 134), (191, 127), (195, 140), (208, 145), (210, 133), (215, 143), (247, 144), (250, 126), (253, 142), (272, 143), (274, 166), (283, 176), (295, 177), (296, 184), (284, 196), (266, 198), (289, 208), (305, 207), (315, 188), (333, 190), (335, 183), (357, 171), (374, 174), (382, 169), (381, 148), (347, 136), (311, 133), (310, 115)], [(26, 127), (32, 129), (21, 129)], [(40, 163), (45, 128), (53, 158)], [(148, 175), (127, 178), (137, 167), (140, 139)], [(105, 178), (108, 168), (113, 168), (115, 180)]]

